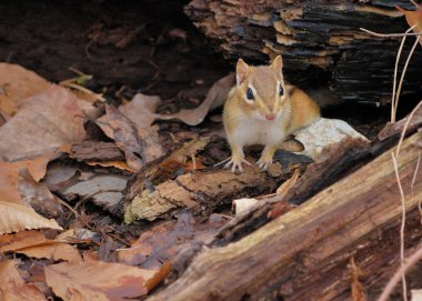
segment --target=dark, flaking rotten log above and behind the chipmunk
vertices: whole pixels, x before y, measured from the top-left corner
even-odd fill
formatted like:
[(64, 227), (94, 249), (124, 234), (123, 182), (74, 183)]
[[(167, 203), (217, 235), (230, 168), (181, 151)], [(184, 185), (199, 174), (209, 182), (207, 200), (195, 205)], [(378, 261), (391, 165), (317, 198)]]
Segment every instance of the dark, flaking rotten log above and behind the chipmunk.
[[(414, 9), (408, 0), (192, 0), (185, 12), (227, 58), (262, 63), (282, 53), (292, 82), (329, 84), (342, 100), (375, 103), (391, 98), (401, 38), (375, 38), (360, 28), (404, 32), (409, 27), (394, 6)], [(421, 91), (421, 64), (416, 51), (406, 92)]]

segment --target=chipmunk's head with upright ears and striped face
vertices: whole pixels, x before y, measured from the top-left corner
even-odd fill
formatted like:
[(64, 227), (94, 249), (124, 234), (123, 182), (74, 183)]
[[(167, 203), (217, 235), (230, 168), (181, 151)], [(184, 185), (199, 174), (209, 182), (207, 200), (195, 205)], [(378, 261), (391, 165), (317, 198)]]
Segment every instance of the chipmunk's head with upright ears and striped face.
[(280, 56), (270, 66), (258, 67), (239, 59), (235, 70), (238, 99), (252, 118), (271, 122), (280, 117), (287, 100), (282, 68)]

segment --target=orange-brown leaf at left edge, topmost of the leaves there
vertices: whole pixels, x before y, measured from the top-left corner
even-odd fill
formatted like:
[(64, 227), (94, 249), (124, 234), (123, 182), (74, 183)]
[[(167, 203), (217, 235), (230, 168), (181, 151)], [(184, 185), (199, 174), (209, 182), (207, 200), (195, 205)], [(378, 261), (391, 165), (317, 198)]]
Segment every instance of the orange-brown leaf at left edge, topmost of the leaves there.
[(37, 73), (19, 64), (0, 63), (0, 110), (9, 116), (18, 112), (28, 98), (51, 86)]

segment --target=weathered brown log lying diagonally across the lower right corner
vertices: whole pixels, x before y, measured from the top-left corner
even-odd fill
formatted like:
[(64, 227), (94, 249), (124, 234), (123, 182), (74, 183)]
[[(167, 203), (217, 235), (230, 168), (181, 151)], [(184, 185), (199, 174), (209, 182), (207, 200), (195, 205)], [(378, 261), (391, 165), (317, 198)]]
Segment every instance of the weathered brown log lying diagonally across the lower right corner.
[[(422, 238), (419, 139), (421, 133), (404, 140), (398, 157), (408, 253)], [(398, 267), (400, 221), (400, 190), (386, 151), (243, 239), (202, 248), (175, 282), (149, 300), (348, 300), (353, 273), (373, 300)]]

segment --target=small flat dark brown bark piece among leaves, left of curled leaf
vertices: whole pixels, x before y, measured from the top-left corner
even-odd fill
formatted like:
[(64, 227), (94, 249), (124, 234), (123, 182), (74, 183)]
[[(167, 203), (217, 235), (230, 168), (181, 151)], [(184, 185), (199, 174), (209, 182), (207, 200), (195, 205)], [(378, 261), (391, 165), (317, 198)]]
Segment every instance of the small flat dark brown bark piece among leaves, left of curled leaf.
[(78, 161), (124, 161), (121, 150), (112, 142), (84, 141), (72, 144), (72, 158)]

